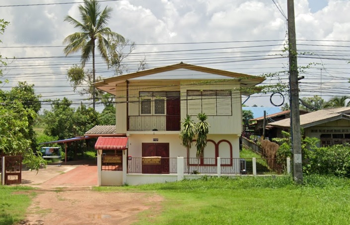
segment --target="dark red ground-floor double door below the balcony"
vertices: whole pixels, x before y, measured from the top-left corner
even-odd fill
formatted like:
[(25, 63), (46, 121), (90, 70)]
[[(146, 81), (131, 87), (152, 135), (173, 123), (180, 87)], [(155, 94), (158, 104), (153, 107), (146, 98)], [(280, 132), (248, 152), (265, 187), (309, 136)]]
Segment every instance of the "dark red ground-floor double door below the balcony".
[(169, 173), (169, 143), (142, 143), (142, 157), (160, 156), (160, 165), (142, 165), (142, 173)]

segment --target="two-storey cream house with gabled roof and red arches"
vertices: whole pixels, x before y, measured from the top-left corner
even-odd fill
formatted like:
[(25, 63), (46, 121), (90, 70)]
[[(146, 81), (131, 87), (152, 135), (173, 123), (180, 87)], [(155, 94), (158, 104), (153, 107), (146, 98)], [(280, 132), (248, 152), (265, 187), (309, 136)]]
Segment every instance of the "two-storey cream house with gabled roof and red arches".
[[(198, 113), (206, 113), (210, 128), (204, 157), (215, 159), (239, 158), (241, 95), (252, 94), (245, 88), (263, 81), (258, 76), (180, 63), (105, 78), (94, 85), (115, 95), (115, 133), (128, 138), (129, 158), (195, 158), (195, 141), (190, 155), (181, 145), (180, 121), (191, 115), (197, 122)], [(199, 162), (199, 166), (216, 164), (216, 160)], [(161, 168), (143, 166), (142, 173), (169, 173), (169, 167), (168, 161), (162, 161)]]

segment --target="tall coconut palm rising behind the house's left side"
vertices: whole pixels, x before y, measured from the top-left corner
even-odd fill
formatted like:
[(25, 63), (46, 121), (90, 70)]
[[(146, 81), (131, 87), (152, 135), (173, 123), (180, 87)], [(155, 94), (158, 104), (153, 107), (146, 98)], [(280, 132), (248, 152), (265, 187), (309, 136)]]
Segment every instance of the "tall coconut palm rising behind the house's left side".
[[(64, 53), (67, 56), (81, 51), (80, 61), (83, 67), (92, 55), (93, 82), (95, 82), (95, 41), (97, 40), (97, 49), (107, 65), (109, 63), (108, 53), (115, 51), (110, 40), (114, 39), (121, 43), (125, 41), (122, 35), (112, 32), (109, 27), (106, 27), (111, 18), (111, 12), (112, 8), (107, 6), (101, 10), (101, 5), (96, 0), (84, 0), (84, 3), (79, 5), (81, 22), (70, 15), (65, 18), (65, 21), (70, 22), (75, 28), (79, 28), (80, 32), (75, 32), (65, 38), (63, 43), (67, 46)], [(92, 99), (95, 109), (95, 88), (93, 88)]]

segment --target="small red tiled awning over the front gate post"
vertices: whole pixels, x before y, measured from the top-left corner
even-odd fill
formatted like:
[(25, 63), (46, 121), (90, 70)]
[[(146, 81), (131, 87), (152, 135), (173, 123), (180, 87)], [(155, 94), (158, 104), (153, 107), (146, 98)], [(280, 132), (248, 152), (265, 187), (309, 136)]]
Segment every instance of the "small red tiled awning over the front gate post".
[(99, 137), (95, 149), (99, 150), (125, 150), (127, 149), (128, 138)]

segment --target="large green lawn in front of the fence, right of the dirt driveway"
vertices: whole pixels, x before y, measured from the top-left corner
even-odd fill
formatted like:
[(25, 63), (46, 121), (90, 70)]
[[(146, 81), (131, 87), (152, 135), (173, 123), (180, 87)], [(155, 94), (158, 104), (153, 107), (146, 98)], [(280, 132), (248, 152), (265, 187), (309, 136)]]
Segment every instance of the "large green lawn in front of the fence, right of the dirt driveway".
[(163, 196), (161, 212), (140, 214), (140, 225), (343, 225), (350, 221), (349, 185), (348, 179), (319, 176), (305, 177), (303, 186), (294, 185), (288, 176), (205, 177), (96, 189)]

